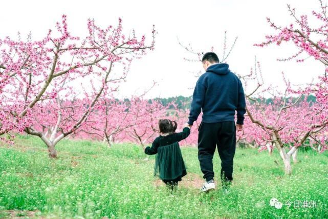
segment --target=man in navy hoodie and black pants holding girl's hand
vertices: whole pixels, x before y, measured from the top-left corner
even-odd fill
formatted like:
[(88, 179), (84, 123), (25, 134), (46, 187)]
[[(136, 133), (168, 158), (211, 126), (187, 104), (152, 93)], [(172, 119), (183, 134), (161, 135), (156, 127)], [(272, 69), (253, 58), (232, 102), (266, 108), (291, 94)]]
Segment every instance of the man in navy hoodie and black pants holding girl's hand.
[[(227, 191), (232, 182), (236, 128), (243, 130), (246, 112), (244, 89), (240, 79), (229, 70), (229, 65), (220, 64), (214, 52), (204, 54), (202, 62), (206, 72), (196, 83), (188, 124), (192, 126), (203, 111), (198, 135), (198, 159), (206, 182), (201, 191), (215, 188), (212, 159), (216, 146), (221, 158), (222, 185)], [(237, 125), (234, 122), (235, 111)]]

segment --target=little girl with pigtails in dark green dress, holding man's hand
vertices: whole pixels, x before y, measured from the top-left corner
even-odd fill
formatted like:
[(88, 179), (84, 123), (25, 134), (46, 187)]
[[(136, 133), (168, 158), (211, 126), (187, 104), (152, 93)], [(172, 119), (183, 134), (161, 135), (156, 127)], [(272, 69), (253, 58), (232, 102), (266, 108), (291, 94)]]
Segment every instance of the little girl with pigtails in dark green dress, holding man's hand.
[(155, 138), (151, 147), (144, 148), (148, 155), (156, 154), (155, 173), (171, 190), (176, 189), (178, 182), (187, 174), (179, 143), (190, 134), (190, 126), (186, 124), (182, 132), (175, 133), (177, 122), (160, 120), (160, 136)]

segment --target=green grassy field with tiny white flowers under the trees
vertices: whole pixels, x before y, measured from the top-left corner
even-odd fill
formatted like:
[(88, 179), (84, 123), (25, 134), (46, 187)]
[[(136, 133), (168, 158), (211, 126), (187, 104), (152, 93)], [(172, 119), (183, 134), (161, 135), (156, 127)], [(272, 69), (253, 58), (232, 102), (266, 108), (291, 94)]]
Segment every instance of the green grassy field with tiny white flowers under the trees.
[[(182, 148), (188, 174), (174, 193), (153, 176), (154, 156), (139, 146), (65, 140), (57, 149), (50, 159), (38, 138), (26, 136), (0, 147), (0, 218), (328, 218), (327, 151), (300, 151), (285, 176), (276, 151), (238, 148), (230, 193), (216, 174), (218, 189), (200, 194), (196, 148)], [(216, 173), (219, 160), (215, 153)], [(270, 206), (272, 197), (281, 209)]]

